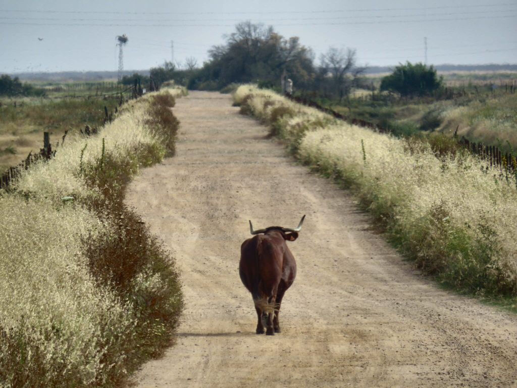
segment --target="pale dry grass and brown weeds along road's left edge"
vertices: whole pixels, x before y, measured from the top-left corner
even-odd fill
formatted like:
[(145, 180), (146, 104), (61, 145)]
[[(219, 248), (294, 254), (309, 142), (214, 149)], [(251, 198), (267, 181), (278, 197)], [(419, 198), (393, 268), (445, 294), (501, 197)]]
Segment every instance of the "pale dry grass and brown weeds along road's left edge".
[(0, 386), (113, 386), (170, 344), (174, 259), (122, 199), (173, 153), (183, 93), (129, 101), (0, 190)]

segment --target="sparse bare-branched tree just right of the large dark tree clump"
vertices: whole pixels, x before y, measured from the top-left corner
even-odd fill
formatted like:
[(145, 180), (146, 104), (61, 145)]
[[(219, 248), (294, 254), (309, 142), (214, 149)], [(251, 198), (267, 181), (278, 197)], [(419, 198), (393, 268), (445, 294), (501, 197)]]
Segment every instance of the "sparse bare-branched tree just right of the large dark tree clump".
[(330, 47), (320, 57), (320, 74), (331, 76), (331, 87), (341, 101), (348, 96), (357, 79), (366, 70), (364, 67), (356, 66), (356, 51), (352, 49), (337, 49)]

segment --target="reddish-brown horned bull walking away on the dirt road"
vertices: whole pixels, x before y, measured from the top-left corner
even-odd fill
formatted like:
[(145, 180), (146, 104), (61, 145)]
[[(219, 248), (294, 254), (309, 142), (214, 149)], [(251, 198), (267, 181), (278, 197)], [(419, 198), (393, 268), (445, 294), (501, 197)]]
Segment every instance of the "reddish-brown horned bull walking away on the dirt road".
[(253, 230), (240, 247), (239, 275), (251, 292), (257, 312), (257, 334), (264, 334), (266, 318), (267, 335), (280, 333), (278, 314), (285, 291), (296, 277), (296, 262), (285, 241), (295, 241), (305, 215), (296, 229), (269, 227)]

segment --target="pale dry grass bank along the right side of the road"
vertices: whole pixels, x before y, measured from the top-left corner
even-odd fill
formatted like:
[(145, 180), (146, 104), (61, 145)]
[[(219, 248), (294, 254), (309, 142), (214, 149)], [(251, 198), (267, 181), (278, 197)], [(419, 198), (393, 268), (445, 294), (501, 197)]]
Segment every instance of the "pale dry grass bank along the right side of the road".
[(517, 296), (517, 181), (466, 153), (349, 125), (255, 86), (241, 112), (270, 125), (303, 163), (352, 188), (392, 243), (443, 283)]

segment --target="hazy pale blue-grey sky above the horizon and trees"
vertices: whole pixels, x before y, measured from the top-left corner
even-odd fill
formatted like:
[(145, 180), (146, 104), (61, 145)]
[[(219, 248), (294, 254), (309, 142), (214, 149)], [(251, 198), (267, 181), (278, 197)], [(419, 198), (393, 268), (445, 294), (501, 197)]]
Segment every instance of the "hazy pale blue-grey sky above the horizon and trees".
[[(260, 6), (257, 6), (260, 4)], [(354, 48), (359, 64), (517, 64), (517, 0), (0, 0), (0, 73), (148, 69), (224, 41), (239, 21), (298, 36), (316, 57)], [(43, 40), (38, 40), (42, 38)]]

